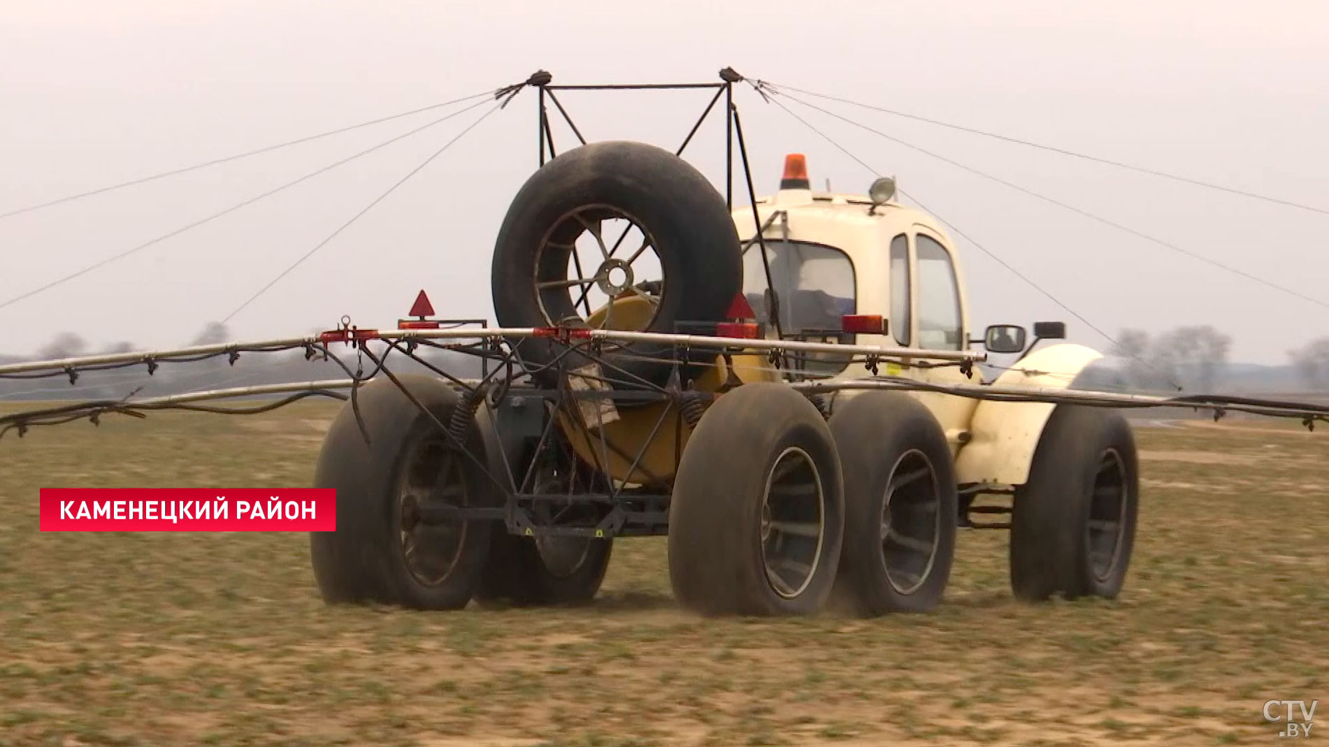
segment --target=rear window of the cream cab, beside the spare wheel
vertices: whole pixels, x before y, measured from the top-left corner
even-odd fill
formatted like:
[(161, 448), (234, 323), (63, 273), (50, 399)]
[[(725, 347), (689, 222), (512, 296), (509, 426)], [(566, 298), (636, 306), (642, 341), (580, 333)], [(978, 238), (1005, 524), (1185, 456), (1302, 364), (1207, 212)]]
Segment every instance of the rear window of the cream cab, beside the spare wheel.
[[(840, 318), (857, 307), (849, 257), (839, 249), (800, 241), (768, 241), (766, 250), (784, 334), (839, 332)], [(754, 243), (743, 253), (743, 294), (758, 320), (768, 324), (766, 288), (762, 247)]]

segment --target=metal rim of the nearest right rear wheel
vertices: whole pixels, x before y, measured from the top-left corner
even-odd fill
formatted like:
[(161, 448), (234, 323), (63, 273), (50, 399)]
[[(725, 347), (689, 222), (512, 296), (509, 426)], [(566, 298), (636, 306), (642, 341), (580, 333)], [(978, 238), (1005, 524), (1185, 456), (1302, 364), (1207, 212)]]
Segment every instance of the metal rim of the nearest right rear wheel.
[(825, 493), (808, 452), (789, 447), (771, 465), (760, 526), (767, 582), (792, 599), (812, 584), (825, 540)]

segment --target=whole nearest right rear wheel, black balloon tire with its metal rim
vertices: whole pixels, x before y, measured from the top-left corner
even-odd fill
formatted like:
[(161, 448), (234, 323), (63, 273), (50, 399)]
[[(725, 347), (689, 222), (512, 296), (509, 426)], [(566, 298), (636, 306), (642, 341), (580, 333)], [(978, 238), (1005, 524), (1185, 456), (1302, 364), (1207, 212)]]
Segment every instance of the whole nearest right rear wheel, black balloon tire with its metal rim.
[(844, 494), (821, 413), (784, 384), (744, 384), (702, 416), (668, 512), (674, 595), (706, 615), (795, 615), (835, 584)]

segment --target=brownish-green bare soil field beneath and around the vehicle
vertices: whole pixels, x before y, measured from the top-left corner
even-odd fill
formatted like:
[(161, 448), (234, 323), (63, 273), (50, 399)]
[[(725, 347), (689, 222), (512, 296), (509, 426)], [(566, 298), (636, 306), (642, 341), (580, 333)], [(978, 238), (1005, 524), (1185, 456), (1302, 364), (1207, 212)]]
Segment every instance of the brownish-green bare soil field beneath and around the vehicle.
[(1265, 700), (1329, 700), (1329, 433), (1294, 424), (1139, 429), (1112, 602), (1015, 602), (1005, 532), (932, 614), (707, 621), (662, 540), (589, 607), (421, 614), (326, 606), (303, 534), (37, 530), (43, 486), (307, 486), (334, 412), (0, 440), (0, 744), (1271, 744)]

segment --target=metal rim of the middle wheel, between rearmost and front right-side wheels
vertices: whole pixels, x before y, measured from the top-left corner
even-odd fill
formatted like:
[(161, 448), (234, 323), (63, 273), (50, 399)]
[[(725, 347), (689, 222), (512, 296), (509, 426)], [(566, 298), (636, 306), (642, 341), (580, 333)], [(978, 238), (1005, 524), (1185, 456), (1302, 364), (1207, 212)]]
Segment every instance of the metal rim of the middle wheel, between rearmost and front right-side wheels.
[(941, 485), (918, 449), (905, 452), (886, 481), (881, 506), (881, 561), (897, 594), (918, 590), (932, 576), (941, 545)]

